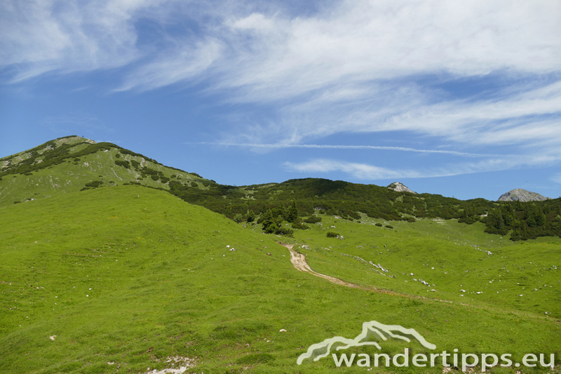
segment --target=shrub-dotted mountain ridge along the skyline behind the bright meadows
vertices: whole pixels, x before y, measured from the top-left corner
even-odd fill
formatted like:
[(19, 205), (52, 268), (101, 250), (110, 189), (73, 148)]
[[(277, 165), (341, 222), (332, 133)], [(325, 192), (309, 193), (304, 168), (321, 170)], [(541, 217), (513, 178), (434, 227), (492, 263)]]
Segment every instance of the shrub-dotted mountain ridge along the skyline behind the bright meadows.
[[(119, 145), (76, 135), (0, 159), (0, 206), (122, 185), (161, 189), (236, 222), (255, 220), (269, 234), (304, 229), (303, 224), (310, 222), (301, 221), (316, 220), (312, 216), (318, 214), (355, 221), (440, 218), (467, 225), (483, 222), (490, 234), (510, 232), (513, 241), (561, 234), (561, 199), (539, 201), (539, 206), (503, 206), (485, 199), (462, 201), (415, 194), (400, 182), (381, 187), (321, 178), (219, 185)], [(282, 225), (283, 220), (292, 225)]]

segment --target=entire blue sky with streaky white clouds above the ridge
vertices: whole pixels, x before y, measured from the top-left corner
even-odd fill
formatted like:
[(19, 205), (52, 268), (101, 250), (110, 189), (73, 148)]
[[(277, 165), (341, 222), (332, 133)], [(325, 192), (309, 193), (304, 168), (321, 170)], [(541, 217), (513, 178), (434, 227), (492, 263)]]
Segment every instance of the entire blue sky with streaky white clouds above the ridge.
[(226, 185), (561, 196), (557, 0), (4, 0), (0, 157), (80, 135)]

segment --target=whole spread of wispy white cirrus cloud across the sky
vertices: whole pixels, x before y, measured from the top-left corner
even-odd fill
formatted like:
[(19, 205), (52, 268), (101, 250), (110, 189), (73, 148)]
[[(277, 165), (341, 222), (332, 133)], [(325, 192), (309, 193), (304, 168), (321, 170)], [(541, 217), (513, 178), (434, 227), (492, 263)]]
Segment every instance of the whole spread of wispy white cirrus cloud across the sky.
[[(473, 164), (480, 170), (559, 158), (561, 3), (341, 0), (309, 3), (306, 13), (289, 6), (8, 0), (0, 5), (0, 69), (11, 82), (114, 69), (112, 92), (196, 83), (217, 106), (238, 108), (225, 116), (229, 128), (218, 142), (253, 148), (400, 132), (430, 139), (431, 149), (454, 149), (438, 152), (485, 154), (487, 165)], [(484, 88), (447, 88), (473, 80)], [(243, 110), (257, 119), (234, 119)], [(497, 158), (507, 147), (519, 157)], [(388, 173), (324, 164), (357, 175)], [(469, 165), (457, 170), (477, 169)], [(448, 172), (424, 174), (431, 173)]]

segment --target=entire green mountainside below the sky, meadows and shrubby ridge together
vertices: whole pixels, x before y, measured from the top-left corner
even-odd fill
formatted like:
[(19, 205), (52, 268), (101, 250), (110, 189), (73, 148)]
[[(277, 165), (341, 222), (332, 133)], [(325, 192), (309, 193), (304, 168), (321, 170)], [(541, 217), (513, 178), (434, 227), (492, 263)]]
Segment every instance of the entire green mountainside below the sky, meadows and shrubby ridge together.
[[(330, 359), (295, 368), (306, 347), (360, 323), (359, 355), (374, 342), (388, 356), (405, 342), (430, 353), (414, 331), (437, 352), (561, 351), (561, 239), (484, 232), (548, 234), (561, 199), (459, 201), (316, 178), (218, 185), (79, 137), (0, 163), (0, 374), (328, 373)], [(263, 234), (265, 219), (292, 235)]]

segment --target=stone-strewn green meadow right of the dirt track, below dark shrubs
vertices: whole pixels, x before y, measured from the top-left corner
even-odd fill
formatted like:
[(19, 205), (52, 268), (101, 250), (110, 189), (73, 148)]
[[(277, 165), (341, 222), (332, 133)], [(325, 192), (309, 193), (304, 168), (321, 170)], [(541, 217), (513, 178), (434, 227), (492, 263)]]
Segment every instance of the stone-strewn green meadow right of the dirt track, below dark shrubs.
[[(395, 229), (387, 229), (374, 226), (375, 221), (366, 218), (357, 225), (325, 217), (322, 225), (297, 231), (295, 238), (309, 246), (309, 250), (301, 247), (299, 251), (323, 274), (412, 295), (475, 305), (487, 302), (561, 318), (559, 238), (513, 243), (506, 237), (485, 234), (480, 223), (419, 220), (391, 222)], [(344, 240), (327, 238), (327, 231), (342, 234)], [(383, 276), (345, 255), (372, 261), (388, 272)]]

